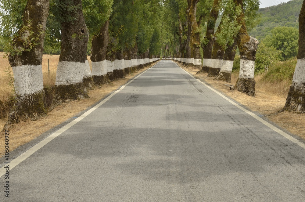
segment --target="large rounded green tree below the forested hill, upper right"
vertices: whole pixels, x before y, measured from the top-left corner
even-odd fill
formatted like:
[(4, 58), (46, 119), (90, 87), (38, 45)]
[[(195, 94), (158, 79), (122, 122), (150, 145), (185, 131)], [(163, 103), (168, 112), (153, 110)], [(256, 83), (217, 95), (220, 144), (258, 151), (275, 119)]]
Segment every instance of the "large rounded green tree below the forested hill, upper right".
[(282, 52), (282, 60), (296, 57), (298, 54), (299, 31), (293, 27), (275, 27), (267, 35), (264, 43)]

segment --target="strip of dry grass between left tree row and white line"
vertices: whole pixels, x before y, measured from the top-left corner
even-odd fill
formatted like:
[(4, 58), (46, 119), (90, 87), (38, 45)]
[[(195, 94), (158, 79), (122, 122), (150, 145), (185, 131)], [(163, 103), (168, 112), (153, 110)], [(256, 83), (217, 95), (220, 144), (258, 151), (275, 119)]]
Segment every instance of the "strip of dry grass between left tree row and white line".
[[(107, 96), (109, 93), (113, 92), (121, 85), (127, 83), (128, 80), (133, 78), (136, 74), (143, 72), (148, 69), (146, 67), (142, 70), (139, 70), (137, 73), (132, 73), (125, 76), (124, 79), (118, 81), (113, 81), (110, 84), (104, 85), (102, 88), (97, 88), (89, 92), (90, 98), (76, 100), (70, 103), (63, 103), (60, 106), (56, 107), (54, 110), (48, 113), (48, 116), (39, 119), (38, 121), (26, 121), (21, 122), (16, 125), (10, 131), (10, 151), (16, 149), (18, 146), (21, 146), (27, 142), (30, 142), (34, 138), (38, 137), (42, 133), (48, 131), (49, 129), (55, 127), (56, 125), (61, 124), (67, 119), (74, 117), (79, 112), (87, 109), (89, 106), (93, 105), (103, 97)], [(5, 120), (0, 120), (0, 127), (3, 128)], [(4, 138), (0, 137), (0, 156), (4, 154)]]

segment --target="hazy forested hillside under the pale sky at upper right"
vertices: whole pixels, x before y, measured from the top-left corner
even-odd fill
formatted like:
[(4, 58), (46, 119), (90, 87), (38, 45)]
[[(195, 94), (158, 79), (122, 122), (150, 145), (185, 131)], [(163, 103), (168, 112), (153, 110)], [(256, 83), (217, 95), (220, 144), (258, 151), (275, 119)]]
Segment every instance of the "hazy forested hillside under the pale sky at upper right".
[(299, 29), (299, 14), (303, 0), (292, 0), (275, 6), (259, 9), (261, 21), (250, 35), (259, 41), (264, 39), (274, 27), (294, 27)]

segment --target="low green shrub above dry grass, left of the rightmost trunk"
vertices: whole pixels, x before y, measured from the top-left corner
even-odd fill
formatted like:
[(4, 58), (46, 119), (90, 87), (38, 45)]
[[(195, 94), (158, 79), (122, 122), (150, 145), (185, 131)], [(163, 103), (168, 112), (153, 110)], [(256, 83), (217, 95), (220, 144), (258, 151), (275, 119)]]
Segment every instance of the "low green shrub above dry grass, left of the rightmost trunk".
[(269, 71), (264, 74), (263, 80), (269, 82), (278, 82), (284, 80), (292, 81), (294, 70), (296, 68), (296, 58), (292, 60), (287, 60), (284, 62), (277, 62)]

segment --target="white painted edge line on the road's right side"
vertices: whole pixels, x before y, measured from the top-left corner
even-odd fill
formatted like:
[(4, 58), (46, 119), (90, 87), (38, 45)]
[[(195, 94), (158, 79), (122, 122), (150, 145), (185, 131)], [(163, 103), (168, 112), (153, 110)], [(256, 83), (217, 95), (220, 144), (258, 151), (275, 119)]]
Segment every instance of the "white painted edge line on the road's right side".
[[(175, 63), (176, 64), (176, 63)], [(176, 64), (177, 65), (177, 64)], [(179, 67), (179, 65), (177, 65)], [(180, 67), (181, 68), (181, 67)], [(182, 68), (181, 68), (182, 69)], [(184, 69), (182, 69), (183, 71), (185, 71)], [(192, 74), (188, 73), (187, 71), (185, 71), (188, 75), (190, 75), (192, 78), (196, 79), (195, 77), (193, 77)], [(257, 116), (256, 114), (254, 114), (253, 112), (250, 112), (249, 110), (246, 110), (245, 108), (243, 108), (242, 106), (240, 106), (239, 104), (233, 102), (231, 99), (227, 98), (226, 96), (224, 96), (223, 94), (221, 94), (220, 92), (218, 92), (217, 90), (211, 88), (210, 86), (206, 85), (206, 83), (200, 81), (199, 79), (196, 79), (197, 81), (199, 81), (200, 83), (202, 83), (204, 86), (206, 86), (207, 88), (211, 89), (212, 91), (216, 92), (218, 95), (220, 95), (222, 98), (228, 100), (231, 104), (233, 104), (234, 106), (238, 107), (239, 109), (241, 109), (242, 111), (246, 112), (247, 114), (249, 114), (250, 116), (252, 116), (253, 118), (255, 118), (256, 120), (260, 121), (261, 123), (265, 124), (267, 127), (271, 128), (272, 130), (274, 130), (275, 132), (279, 133), (280, 135), (284, 136), (285, 138), (289, 139), (291, 142), (296, 143), (297, 145), (301, 146), (303, 149), (305, 149), (305, 144), (303, 142), (300, 142), (298, 139), (288, 135), (287, 133), (285, 133), (284, 131), (280, 130), (279, 128), (275, 127), (274, 125), (268, 123), (267, 121), (265, 121), (264, 119), (262, 119), (261, 117)]]

